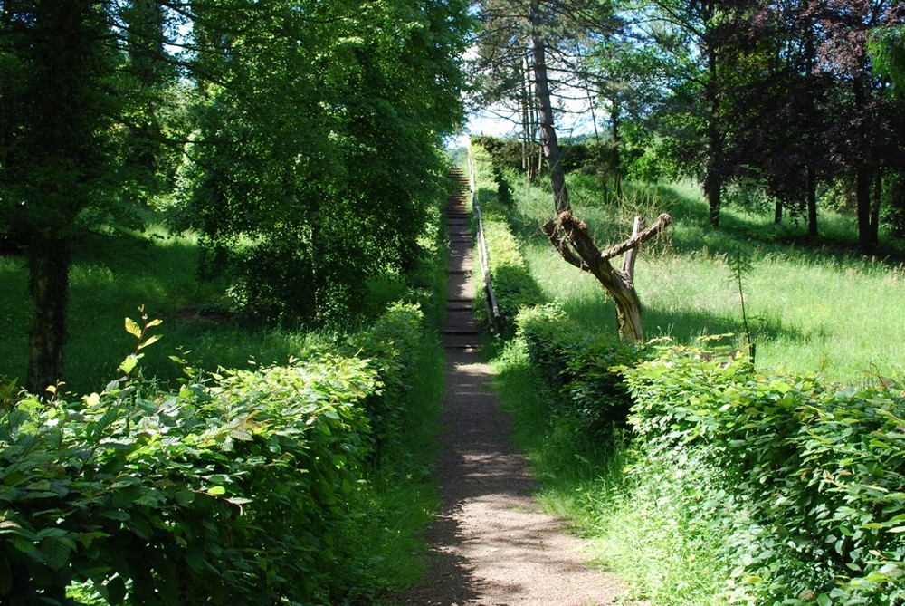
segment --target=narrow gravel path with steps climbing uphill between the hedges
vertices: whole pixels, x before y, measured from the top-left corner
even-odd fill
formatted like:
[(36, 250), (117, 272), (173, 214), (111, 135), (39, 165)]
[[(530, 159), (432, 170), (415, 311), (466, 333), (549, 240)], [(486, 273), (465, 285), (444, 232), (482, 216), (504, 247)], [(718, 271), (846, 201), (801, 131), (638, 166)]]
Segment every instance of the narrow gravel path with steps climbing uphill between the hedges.
[(400, 597), (418, 606), (603, 606), (622, 592), (582, 564), (580, 542), (531, 498), (534, 480), (478, 358), (472, 315), (472, 236), (462, 197), (447, 207), (451, 251), (443, 340), (447, 386), (443, 503), (428, 531), (431, 570)]

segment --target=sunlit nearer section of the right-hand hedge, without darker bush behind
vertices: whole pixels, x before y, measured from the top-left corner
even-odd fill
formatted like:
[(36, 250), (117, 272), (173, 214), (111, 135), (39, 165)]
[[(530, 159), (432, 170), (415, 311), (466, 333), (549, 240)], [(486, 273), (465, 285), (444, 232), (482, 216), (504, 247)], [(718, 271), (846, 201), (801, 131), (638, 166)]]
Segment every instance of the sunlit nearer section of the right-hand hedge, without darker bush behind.
[(623, 370), (639, 449), (678, 467), (689, 459), (677, 453), (700, 453), (719, 469), (713, 491), (736, 504), (706, 512), (732, 527), (724, 556), (734, 601), (905, 598), (900, 391), (757, 373), (683, 348)]

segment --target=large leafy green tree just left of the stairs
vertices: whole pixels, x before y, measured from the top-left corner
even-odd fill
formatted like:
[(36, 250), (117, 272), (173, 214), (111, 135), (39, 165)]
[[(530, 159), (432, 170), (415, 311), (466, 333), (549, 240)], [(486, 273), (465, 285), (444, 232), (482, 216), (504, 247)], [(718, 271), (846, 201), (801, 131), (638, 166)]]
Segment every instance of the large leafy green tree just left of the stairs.
[(199, 49), (224, 76), (199, 108), (198, 139), (214, 144), (189, 154), (186, 215), (246, 309), (322, 318), (413, 264), (443, 188), (441, 139), (463, 119), (468, 19), (462, 2), (411, 0), (271, 3), (267, 16)]

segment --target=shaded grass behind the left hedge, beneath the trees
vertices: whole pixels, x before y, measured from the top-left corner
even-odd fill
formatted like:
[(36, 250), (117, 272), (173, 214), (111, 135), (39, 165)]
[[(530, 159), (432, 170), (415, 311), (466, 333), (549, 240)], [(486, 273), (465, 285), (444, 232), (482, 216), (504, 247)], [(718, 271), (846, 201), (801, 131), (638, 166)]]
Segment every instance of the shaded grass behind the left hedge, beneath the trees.
[[(433, 236), (423, 245), (433, 245)], [(306, 346), (329, 341), (339, 329), (312, 330), (296, 322), (262, 326), (229, 313), (228, 283), (218, 276), (199, 276), (201, 255), (195, 236), (170, 235), (151, 225), (142, 234), (92, 236), (76, 246), (70, 274), (68, 340), (65, 347), (66, 390), (90, 393), (115, 378), (119, 362), (135, 347), (123, 327), (124, 318), (138, 320), (139, 306), (149, 318), (163, 321), (163, 338), (142, 351), (145, 375), (172, 381), (182, 367), (176, 355), (204, 370), (247, 368), (257, 363), (285, 363)], [(424, 274), (424, 272), (423, 272)], [(422, 280), (431, 284), (430, 270)], [(0, 255), (0, 377), (24, 380), (28, 355), (31, 302), (24, 258)], [(361, 312), (379, 313), (405, 296), (401, 280), (372, 284), (370, 301)], [(425, 305), (426, 307), (426, 305)], [(435, 321), (436, 313), (425, 309)], [(364, 322), (364, 321), (362, 321)], [(357, 322), (346, 323), (343, 331)]]

